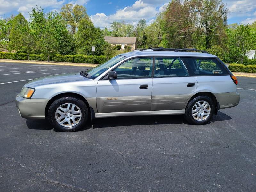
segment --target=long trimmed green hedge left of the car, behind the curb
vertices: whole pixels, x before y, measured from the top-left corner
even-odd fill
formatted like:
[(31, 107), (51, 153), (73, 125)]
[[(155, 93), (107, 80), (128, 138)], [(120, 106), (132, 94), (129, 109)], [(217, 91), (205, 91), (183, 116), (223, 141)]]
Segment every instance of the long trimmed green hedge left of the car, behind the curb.
[[(0, 59), (13, 59), (13, 60), (28, 60), (28, 55), (26, 53), (9, 53), (0, 52)], [(47, 61), (47, 56), (30, 54), (30, 60), (36, 61)], [(68, 62), (68, 63), (92, 63), (92, 55), (55, 55), (50, 58), (50, 61), (57, 62)], [(106, 57), (103, 55), (94, 56), (94, 63), (101, 64), (106, 61)]]

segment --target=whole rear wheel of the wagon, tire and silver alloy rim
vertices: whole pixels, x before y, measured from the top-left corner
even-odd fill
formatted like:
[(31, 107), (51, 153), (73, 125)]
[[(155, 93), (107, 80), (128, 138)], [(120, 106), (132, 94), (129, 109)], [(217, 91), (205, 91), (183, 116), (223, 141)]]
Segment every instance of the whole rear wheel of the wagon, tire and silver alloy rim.
[(190, 124), (203, 125), (211, 120), (214, 110), (214, 102), (210, 97), (198, 96), (188, 103), (185, 109), (185, 119)]

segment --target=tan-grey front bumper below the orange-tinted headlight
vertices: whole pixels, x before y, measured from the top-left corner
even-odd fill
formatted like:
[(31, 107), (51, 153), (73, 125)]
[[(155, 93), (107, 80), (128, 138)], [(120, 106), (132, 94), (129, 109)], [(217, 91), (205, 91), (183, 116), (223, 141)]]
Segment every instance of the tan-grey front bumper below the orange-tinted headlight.
[(49, 99), (26, 99), (16, 96), (15, 103), (20, 116), (25, 119), (45, 119), (45, 107)]

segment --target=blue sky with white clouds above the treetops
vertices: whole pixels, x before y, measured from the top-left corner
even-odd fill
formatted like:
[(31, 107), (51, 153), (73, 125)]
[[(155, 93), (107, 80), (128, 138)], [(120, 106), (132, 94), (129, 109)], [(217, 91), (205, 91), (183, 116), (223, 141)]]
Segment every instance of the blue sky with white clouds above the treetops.
[[(92, 22), (103, 28), (114, 20), (132, 24), (142, 18), (153, 22), (156, 14), (169, 0), (0, 0), (0, 16), (3, 18), (21, 12), (29, 19), (28, 12), (36, 5), (46, 12), (57, 10), (66, 3), (84, 5)], [(223, 0), (230, 9), (228, 24), (252, 23), (256, 21), (256, 4), (253, 0)]]

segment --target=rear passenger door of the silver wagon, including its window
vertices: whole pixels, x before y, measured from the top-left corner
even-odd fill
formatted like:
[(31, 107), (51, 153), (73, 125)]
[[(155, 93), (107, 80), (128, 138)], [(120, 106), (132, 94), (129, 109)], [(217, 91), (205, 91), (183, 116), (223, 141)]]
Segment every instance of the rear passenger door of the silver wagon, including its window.
[(188, 71), (180, 58), (156, 57), (152, 110), (183, 109), (188, 96), (197, 86), (196, 78), (188, 76)]

